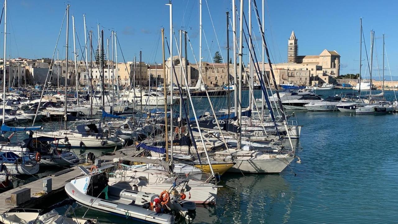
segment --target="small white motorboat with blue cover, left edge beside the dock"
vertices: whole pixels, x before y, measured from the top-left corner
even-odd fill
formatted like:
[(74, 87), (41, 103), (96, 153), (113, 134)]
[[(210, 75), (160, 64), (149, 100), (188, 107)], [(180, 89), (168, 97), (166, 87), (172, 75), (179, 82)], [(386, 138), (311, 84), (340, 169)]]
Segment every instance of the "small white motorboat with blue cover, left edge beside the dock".
[(0, 171), (12, 175), (32, 175), (39, 172), (39, 163), (28, 156), (20, 157), (13, 152), (0, 152)]

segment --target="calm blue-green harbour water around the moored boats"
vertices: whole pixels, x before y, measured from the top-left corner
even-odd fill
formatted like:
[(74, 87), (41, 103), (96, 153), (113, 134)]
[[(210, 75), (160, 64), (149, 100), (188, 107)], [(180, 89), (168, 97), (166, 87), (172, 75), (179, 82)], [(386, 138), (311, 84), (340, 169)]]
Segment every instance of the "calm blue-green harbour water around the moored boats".
[[(326, 97), (342, 91), (352, 92), (317, 94)], [(392, 100), (392, 92), (386, 98)], [(205, 99), (195, 99), (195, 105), (198, 113), (209, 108)], [(225, 98), (215, 99), (216, 108), (226, 105)], [(218, 204), (198, 207), (192, 223), (397, 223), (398, 115), (296, 112), (296, 116), (303, 125), (295, 142), (302, 163), (295, 160), (292, 171), (288, 167), (278, 175), (222, 176)], [(85, 211), (78, 208), (76, 214)], [(86, 217), (131, 223), (96, 211)]]

